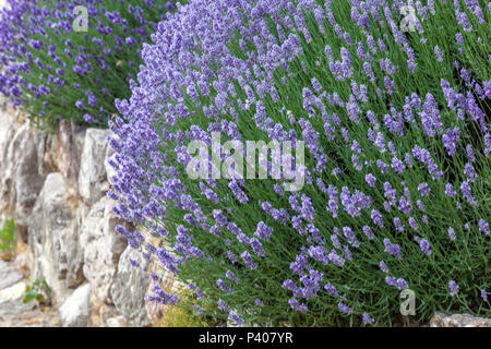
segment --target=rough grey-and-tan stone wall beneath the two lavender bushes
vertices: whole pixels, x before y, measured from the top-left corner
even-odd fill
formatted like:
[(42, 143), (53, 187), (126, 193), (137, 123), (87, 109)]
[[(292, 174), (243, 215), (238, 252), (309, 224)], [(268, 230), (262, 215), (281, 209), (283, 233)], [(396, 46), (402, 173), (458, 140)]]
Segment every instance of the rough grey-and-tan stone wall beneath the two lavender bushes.
[[(64, 326), (145, 326), (146, 273), (115, 232), (107, 130), (62, 121), (45, 134), (0, 101), (0, 215), (14, 218), (29, 278), (44, 278)], [(131, 228), (131, 227), (128, 227)], [(131, 286), (131, 287), (129, 287)]]

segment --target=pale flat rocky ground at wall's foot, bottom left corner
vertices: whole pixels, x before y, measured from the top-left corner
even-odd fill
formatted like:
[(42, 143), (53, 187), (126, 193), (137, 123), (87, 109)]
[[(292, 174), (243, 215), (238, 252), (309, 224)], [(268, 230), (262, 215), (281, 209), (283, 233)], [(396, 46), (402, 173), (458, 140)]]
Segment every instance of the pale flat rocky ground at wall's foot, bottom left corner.
[(59, 326), (58, 311), (22, 301), (27, 279), (13, 263), (0, 260), (0, 327)]

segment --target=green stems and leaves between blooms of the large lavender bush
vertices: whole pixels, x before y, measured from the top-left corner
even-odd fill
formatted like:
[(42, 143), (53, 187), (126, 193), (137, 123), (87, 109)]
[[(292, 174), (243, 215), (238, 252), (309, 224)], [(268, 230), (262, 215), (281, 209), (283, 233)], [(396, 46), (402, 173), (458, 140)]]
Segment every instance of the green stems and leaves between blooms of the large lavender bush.
[[(348, 1), (334, 1), (333, 9), (336, 19), (349, 19), (350, 7)], [(416, 292), (417, 315), (415, 320), (419, 322), (428, 322), (434, 311), (456, 311), (468, 312), (480, 316), (490, 316), (490, 306), (480, 296), (480, 290), (489, 290), (490, 284), (490, 240), (479, 230), (479, 219), (489, 218), (490, 212), (490, 160), (484, 156), (484, 134), (479, 130), (477, 122), (464, 121), (457, 118), (456, 111), (446, 107), (447, 101), (440, 86), (441, 80), (444, 79), (458, 93), (466, 93), (465, 83), (455, 73), (453, 69), (454, 60), (459, 60), (462, 67), (465, 67), (476, 81), (483, 83), (489, 81), (490, 71), (483, 69), (489, 67), (487, 59), (490, 55), (489, 31), (487, 26), (480, 26), (472, 19), (475, 27), (472, 33), (464, 33), (466, 36), (466, 46), (462, 55), (458, 53), (455, 41), (455, 35), (458, 27), (455, 25), (455, 15), (452, 4), (436, 3), (436, 14), (431, 21), (423, 23), (426, 33), (423, 36), (418, 33), (407, 34), (408, 41), (416, 51), (418, 57), (418, 70), (412, 73), (407, 67), (407, 55), (398, 47), (394, 37), (387, 29), (385, 22), (374, 23), (372, 34), (374, 39), (384, 40), (388, 49), (379, 50), (373, 53), (373, 59), (379, 62), (383, 59), (390, 59), (397, 65), (397, 74), (392, 76), (397, 91), (394, 94), (378, 93), (378, 87), (383, 87), (384, 72), (375, 71), (378, 84), (367, 83), (368, 101), (360, 104), (361, 123), (350, 123), (346, 109), (339, 106), (328, 105), (323, 99), (328, 115), (336, 112), (342, 119), (343, 124), (349, 131), (352, 140), (356, 140), (363, 154), (361, 163), (366, 164), (363, 170), (357, 170), (351, 161), (352, 152), (350, 143), (343, 141), (330, 141), (325, 134), (320, 136), (320, 145), (323, 147), (328, 158), (326, 169), (319, 173), (319, 179), (324, 183), (332, 184), (338, 191), (347, 188), (351, 191), (360, 190), (371, 195), (373, 206), (383, 213), (385, 226), (383, 228), (372, 227), (374, 240), (364, 237), (362, 228), (371, 225), (372, 218), (370, 210), (362, 212), (358, 218), (350, 216), (344, 212), (339, 205), (338, 217), (326, 210), (330, 196), (320, 191), (315, 185), (306, 185), (302, 194), (311, 197), (315, 207), (315, 227), (320, 234), (327, 243), (327, 251), (333, 249), (331, 238), (334, 236), (335, 229), (343, 227), (351, 227), (356, 232), (360, 246), (351, 248), (354, 262), (347, 262), (342, 268), (334, 263), (323, 265), (319, 262), (312, 262), (312, 268), (321, 270), (324, 275), (323, 286), (325, 282), (333, 284), (339, 290), (339, 297), (331, 297), (323, 288), (318, 292), (318, 297), (308, 300), (309, 312), (296, 312), (288, 306), (288, 300), (292, 293), (283, 288), (282, 284), (288, 278), (297, 281), (298, 276), (294, 275), (290, 269), (290, 263), (295, 262), (298, 252), (303, 248), (307, 250), (309, 243), (299, 232), (288, 222), (282, 224), (265, 214), (261, 207), (261, 203), (267, 202), (274, 208), (289, 209), (288, 195), (279, 196), (273, 192), (272, 188), (275, 181), (258, 180), (246, 181), (243, 191), (249, 196), (250, 202), (247, 204), (238, 203), (237, 198), (230, 194), (228, 180), (216, 180), (213, 191), (221, 198), (219, 204), (214, 204), (203, 196), (200, 182), (182, 176), (180, 180), (187, 188), (187, 194), (196, 200), (196, 203), (203, 209), (205, 217), (212, 217), (214, 209), (220, 209), (226, 213), (229, 221), (236, 222), (241, 227), (242, 231), (249, 237), (253, 237), (259, 221), (264, 220), (270, 227), (274, 228), (274, 233), (270, 242), (263, 243), (265, 258), (260, 261), (258, 268), (251, 273), (241, 263), (230, 264), (227, 252), (231, 251), (236, 255), (244, 251), (244, 246), (238, 243), (224, 244), (224, 241), (235, 242), (237, 238), (227, 229), (223, 229), (223, 234), (217, 238), (209, 231), (204, 231), (199, 225), (188, 225), (183, 219), (183, 209), (181, 205), (170, 204), (166, 207), (165, 222), (156, 219), (156, 224), (165, 226), (172, 237), (172, 242), (177, 241), (177, 227), (184, 225), (190, 236), (193, 237), (193, 245), (199, 246), (206, 256), (213, 258), (193, 258), (192, 262), (180, 266), (180, 277), (183, 280), (193, 280), (206, 294), (214, 299), (223, 299), (232, 309), (240, 311), (241, 316), (247, 322), (258, 324), (278, 325), (288, 322), (300, 326), (333, 326), (333, 325), (360, 325), (361, 315), (368, 312), (375, 317), (376, 325), (393, 325), (400, 318), (399, 313), (399, 293), (397, 287), (391, 287), (385, 279), (386, 275), (379, 268), (379, 263), (385, 261), (390, 267), (391, 276), (394, 278), (404, 278), (411, 290)], [(489, 17), (488, 12), (486, 15)], [(324, 130), (325, 120), (320, 117), (320, 111), (308, 113), (303, 106), (302, 89), (311, 85), (311, 80), (315, 77), (325, 91), (330, 94), (336, 92), (343, 100), (349, 100), (352, 93), (350, 81), (336, 81), (330, 71), (330, 62), (324, 48), (330, 45), (333, 52), (339, 52), (342, 47), (346, 47), (343, 38), (338, 38), (334, 28), (326, 26), (326, 33), (321, 34), (315, 26), (315, 20), (312, 14), (306, 14), (307, 26), (314, 38), (311, 43), (301, 37), (302, 53), (296, 61), (291, 62), (291, 69), (288, 72), (277, 70), (275, 72), (275, 87), (278, 91), (280, 103), (274, 103), (270, 97), (265, 97), (262, 101), (265, 105), (267, 117), (274, 122), (282, 123), (285, 128), (289, 127), (288, 112), (295, 116), (296, 120), (306, 118), (312, 124), (314, 130)], [(343, 21), (344, 29), (349, 33), (351, 39), (364, 43), (366, 33), (361, 32), (349, 20)], [(272, 24), (272, 27), (274, 25)], [(477, 40), (477, 38), (480, 40)], [(422, 40), (426, 38), (427, 40)], [(423, 44), (426, 43), (426, 44)], [(447, 43), (452, 43), (452, 45)], [(488, 43), (483, 45), (483, 43)], [(445, 61), (440, 63), (435, 59), (434, 47), (441, 45), (445, 51)], [(230, 43), (231, 52), (240, 52), (238, 40)], [(362, 68), (362, 61), (356, 59), (356, 45), (349, 47), (351, 58), (354, 59), (356, 82), (366, 82), (367, 76)], [(337, 53), (336, 53), (337, 55)], [(237, 53), (239, 56), (239, 53)], [(338, 59), (338, 58), (336, 58)], [(474, 60), (474, 62), (472, 62)], [(283, 83), (283, 81), (285, 83)], [(388, 132), (384, 127), (384, 116), (393, 113), (392, 107), (402, 110), (405, 105), (405, 97), (411, 96), (412, 93), (423, 99), (427, 94), (432, 94), (436, 99), (439, 108), (442, 110), (442, 122), (444, 128), (453, 129), (458, 127), (462, 132), (462, 140), (458, 152), (451, 158), (443, 147), (441, 136), (430, 137), (421, 131), (421, 127), (411, 124), (405, 125), (406, 133), (397, 135)], [(247, 99), (243, 89), (237, 86), (237, 94), (241, 100)], [(191, 125), (199, 125), (203, 130), (207, 130), (209, 118), (203, 113), (201, 106), (213, 105), (215, 98), (214, 92), (207, 97), (200, 96), (200, 104), (195, 104), (189, 99), (185, 106), (193, 115), (193, 118), (178, 119), (177, 124), (168, 127), (166, 132), (178, 132), (189, 130)], [(486, 101), (477, 101), (482, 110), (488, 113), (489, 106)], [(236, 110), (240, 107), (236, 106)], [(385, 152), (381, 154), (373, 146), (367, 134), (369, 133), (369, 124), (364, 117), (367, 111), (373, 111), (376, 116), (378, 123), (381, 125), (386, 142), (391, 141), (398, 152), (399, 157), (405, 154), (412, 154), (415, 145), (419, 145), (429, 149), (434, 157), (439, 169), (444, 171), (442, 180), (432, 179), (428, 173), (428, 168), (421, 163), (416, 163), (414, 168), (407, 169), (404, 174), (399, 176), (393, 170), (386, 173), (382, 172), (376, 166), (376, 160), (383, 160), (391, 164), (392, 154)], [(227, 118), (229, 116), (225, 116)], [(419, 122), (419, 116), (418, 122)], [(466, 117), (470, 118), (470, 117)], [(240, 117), (235, 120), (229, 117), (229, 121), (237, 122), (241, 135), (246, 140), (264, 140), (268, 141), (265, 132), (258, 131), (254, 125), (254, 110), (240, 110)], [(348, 120), (348, 121), (347, 121)], [(164, 124), (164, 118), (161, 124)], [(158, 130), (158, 125), (156, 125)], [(302, 134), (302, 129), (298, 123), (291, 127), (297, 134)], [(320, 131), (322, 132), (322, 131)], [(336, 140), (343, 140), (343, 133), (339, 128), (336, 130)], [(224, 137), (225, 139), (225, 137)], [(223, 140), (223, 142), (228, 139)], [(476, 160), (476, 170), (479, 173), (478, 180), (472, 186), (472, 194), (480, 202), (479, 206), (472, 206), (466, 198), (458, 194), (456, 198), (452, 198), (445, 194), (445, 184), (452, 182), (456, 189), (466, 180), (464, 173), (464, 164), (467, 161), (465, 144), (471, 146), (478, 153)], [(175, 147), (180, 145), (178, 142), (172, 143), (166, 140), (166, 156), (171, 158), (169, 164), (175, 166), (179, 164), (176, 160)], [(170, 149), (169, 152), (166, 152)], [(173, 157), (173, 158), (172, 158)], [(167, 160), (168, 158), (166, 158)], [(315, 160), (312, 156), (308, 157), (308, 168), (315, 168)], [(363, 163), (364, 160), (364, 163)], [(180, 173), (184, 173), (185, 169), (176, 165)], [(337, 170), (340, 172), (337, 174)], [(378, 182), (372, 189), (366, 182), (366, 174), (369, 172), (376, 173)], [(418, 192), (418, 185), (428, 181), (431, 185), (431, 196), (423, 197)], [(383, 183), (391, 183), (397, 193), (404, 193), (405, 186), (410, 190), (412, 200), (411, 214), (398, 212), (396, 208), (386, 209), (383, 205), (384, 188)], [(402, 194), (400, 194), (402, 195)], [(300, 195), (299, 195), (300, 196)], [(417, 201), (424, 204), (424, 209), (418, 209)], [(414, 217), (419, 227), (416, 231), (411, 230), (408, 224), (404, 231), (398, 231), (393, 224), (395, 218), (402, 217), (404, 221), (408, 221)], [(426, 222), (428, 221), (428, 222)], [(209, 218), (206, 221), (209, 226), (215, 221)], [(465, 228), (469, 226), (470, 228)], [(457, 240), (454, 242), (448, 238), (448, 229), (453, 227), (456, 230)], [(404, 258), (396, 258), (385, 252), (384, 238), (398, 243), (404, 251)], [(415, 242), (419, 238), (424, 238), (431, 243), (432, 254), (426, 255), (420, 245)], [(340, 239), (344, 239), (340, 236)], [(345, 240), (343, 240), (345, 241)], [(343, 253), (343, 252), (340, 252)], [(251, 254), (253, 254), (251, 252)], [(256, 260), (256, 261), (258, 261)], [(240, 284), (233, 285), (233, 293), (226, 293), (216, 287), (216, 280), (224, 278), (227, 270), (232, 270), (240, 279)], [(459, 293), (452, 296), (448, 290), (448, 281), (456, 280), (459, 285)], [(228, 280), (226, 280), (228, 281)], [(229, 282), (231, 284), (231, 282)], [(300, 285), (300, 282), (298, 282)], [(338, 302), (346, 299), (348, 304), (354, 308), (349, 316), (340, 314)], [(264, 306), (258, 308), (254, 303), (255, 299), (261, 299)], [(253, 310), (253, 311), (251, 311)], [(226, 316), (226, 314), (224, 314)]]

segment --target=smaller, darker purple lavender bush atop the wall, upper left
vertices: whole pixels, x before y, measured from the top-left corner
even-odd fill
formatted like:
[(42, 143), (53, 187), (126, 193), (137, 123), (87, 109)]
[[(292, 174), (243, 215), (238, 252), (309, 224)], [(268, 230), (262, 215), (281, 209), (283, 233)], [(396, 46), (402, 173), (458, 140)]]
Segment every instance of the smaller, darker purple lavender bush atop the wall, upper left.
[(9, 0), (0, 14), (0, 93), (25, 105), (39, 128), (59, 119), (106, 125), (115, 98), (131, 95), (142, 43), (172, 3)]

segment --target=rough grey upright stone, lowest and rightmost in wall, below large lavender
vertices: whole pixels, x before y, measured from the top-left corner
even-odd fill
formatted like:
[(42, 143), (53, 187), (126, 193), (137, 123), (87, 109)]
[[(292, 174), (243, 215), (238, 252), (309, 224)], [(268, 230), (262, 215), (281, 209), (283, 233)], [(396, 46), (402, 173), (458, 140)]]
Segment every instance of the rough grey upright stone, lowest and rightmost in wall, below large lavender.
[(146, 326), (151, 320), (145, 309), (145, 293), (148, 276), (139, 267), (130, 265), (130, 260), (144, 265), (141, 252), (128, 246), (121, 254), (111, 297), (116, 309), (132, 325)]

